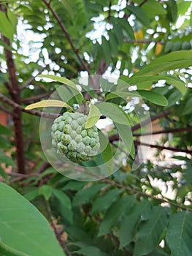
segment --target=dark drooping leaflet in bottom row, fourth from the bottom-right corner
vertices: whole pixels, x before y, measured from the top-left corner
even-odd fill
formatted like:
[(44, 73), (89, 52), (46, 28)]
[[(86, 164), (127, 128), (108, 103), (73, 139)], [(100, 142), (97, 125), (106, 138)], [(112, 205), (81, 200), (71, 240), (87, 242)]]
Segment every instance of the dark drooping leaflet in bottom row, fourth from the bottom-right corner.
[(131, 208), (134, 200), (134, 195), (126, 195), (125, 197), (118, 198), (115, 203), (112, 203), (112, 206), (108, 208), (104, 215), (104, 219), (99, 226), (98, 236), (104, 236), (109, 233), (112, 227), (117, 223), (117, 219), (123, 214), (126, 206)]

